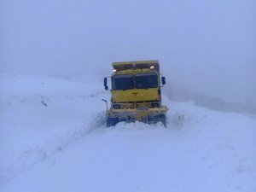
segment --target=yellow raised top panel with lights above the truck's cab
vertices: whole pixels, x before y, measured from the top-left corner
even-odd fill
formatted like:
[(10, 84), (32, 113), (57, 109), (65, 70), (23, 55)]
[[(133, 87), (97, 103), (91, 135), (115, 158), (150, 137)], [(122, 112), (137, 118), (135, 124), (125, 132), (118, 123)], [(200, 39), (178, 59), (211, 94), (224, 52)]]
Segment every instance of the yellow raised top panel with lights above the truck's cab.
[(129, 70), (129, 69), (153, 69), (159, 71), (159, 61), (123, 61), (123, 62), (113, 62), (113, 69), (117, 71)]

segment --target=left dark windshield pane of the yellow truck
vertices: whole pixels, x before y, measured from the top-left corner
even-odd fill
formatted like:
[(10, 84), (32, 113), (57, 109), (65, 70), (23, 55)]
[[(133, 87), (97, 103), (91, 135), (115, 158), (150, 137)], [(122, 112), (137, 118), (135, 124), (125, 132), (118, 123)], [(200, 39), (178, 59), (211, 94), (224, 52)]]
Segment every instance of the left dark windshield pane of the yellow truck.
[(113, 90), (132, 90), (134, 86), (134, 75), (123, 74), (113, 76)]

